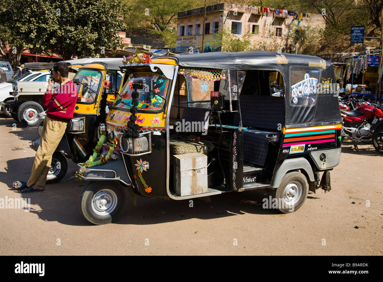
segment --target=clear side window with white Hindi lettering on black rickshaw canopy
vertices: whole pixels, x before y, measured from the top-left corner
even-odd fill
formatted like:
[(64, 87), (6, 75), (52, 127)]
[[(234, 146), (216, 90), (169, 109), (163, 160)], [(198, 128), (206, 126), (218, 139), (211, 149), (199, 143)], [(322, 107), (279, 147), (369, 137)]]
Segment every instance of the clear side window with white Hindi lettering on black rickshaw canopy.
[(314, 106), (318, 96), (319, 69), (290, 68), (290, 105)]

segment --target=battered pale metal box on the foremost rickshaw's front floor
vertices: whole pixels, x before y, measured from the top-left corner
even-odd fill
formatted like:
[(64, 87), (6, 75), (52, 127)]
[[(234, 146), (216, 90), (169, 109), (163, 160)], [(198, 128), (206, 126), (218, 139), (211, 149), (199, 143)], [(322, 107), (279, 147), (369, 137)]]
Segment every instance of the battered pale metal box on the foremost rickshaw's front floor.
[(174, 187), (180, 196), (208, 192), (208, 157), (202, 153), (173, 156)]

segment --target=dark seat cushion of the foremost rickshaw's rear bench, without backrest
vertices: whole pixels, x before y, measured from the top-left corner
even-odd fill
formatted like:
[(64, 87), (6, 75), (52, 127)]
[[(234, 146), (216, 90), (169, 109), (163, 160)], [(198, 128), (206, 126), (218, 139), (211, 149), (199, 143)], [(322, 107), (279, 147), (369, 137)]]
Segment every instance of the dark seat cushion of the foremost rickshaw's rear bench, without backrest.
[(247, 129), (243, 132), (243, 159), (245, 162), (264, 165), (270, 142), (280, 140), (280, 132)]

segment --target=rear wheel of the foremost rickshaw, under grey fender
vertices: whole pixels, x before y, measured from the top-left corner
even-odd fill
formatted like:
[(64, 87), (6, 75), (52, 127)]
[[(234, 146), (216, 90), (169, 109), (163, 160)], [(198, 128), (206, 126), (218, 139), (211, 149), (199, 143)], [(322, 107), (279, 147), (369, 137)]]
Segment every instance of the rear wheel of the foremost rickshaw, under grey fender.
[(278, 211), (292, 213), (299, 209), (306, 201), (308, 187), (306, 176), (303, 173), (286, 173), (278, 188), (273, 190), (273, 198), (278, 203)]

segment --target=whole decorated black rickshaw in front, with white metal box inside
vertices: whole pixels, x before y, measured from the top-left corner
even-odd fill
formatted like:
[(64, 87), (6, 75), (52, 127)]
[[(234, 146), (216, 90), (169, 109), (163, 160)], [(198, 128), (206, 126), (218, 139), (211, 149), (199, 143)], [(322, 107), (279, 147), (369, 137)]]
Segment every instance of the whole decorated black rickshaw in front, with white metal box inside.
[(76, 173), (92, 181), (79, 199), (91, 223), (118, 218), (126, 189), (133, 203), (136, 195), (188, 200), (262, 190), (273, 202), (265, 206), (282, 213), (300, 208), (309, 190), (331, 190), (342, 123), (331, 63), (300, 54), (214, 52), (121, 71), (127, 81), (106, 129)]

